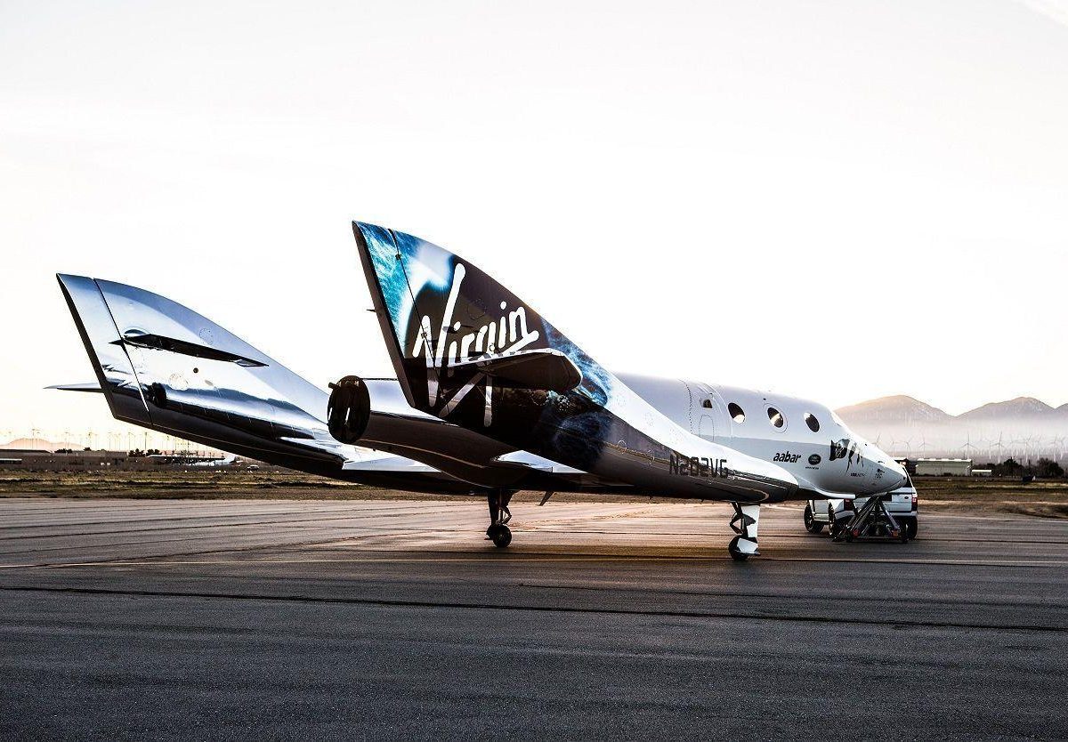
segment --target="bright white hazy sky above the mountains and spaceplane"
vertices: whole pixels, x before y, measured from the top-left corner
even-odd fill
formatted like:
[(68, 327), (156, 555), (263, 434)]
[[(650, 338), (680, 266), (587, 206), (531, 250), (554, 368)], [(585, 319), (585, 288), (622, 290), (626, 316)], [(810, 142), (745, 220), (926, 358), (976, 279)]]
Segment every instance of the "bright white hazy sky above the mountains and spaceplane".
[(0, 436), (117, 429), (57, 271), (390, 373), (354, 218), (611, 368), (1059, 405), (1068, 4), (2, 0)]

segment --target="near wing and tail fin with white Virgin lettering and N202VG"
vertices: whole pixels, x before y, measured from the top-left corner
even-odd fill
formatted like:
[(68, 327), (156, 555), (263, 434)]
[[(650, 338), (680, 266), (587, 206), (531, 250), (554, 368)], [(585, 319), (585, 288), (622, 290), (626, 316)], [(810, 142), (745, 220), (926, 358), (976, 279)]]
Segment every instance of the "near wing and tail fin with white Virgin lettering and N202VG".
[(469, 262), (402, 232), (352, 228), (417, 410), (650, 494), (758, 503), (796, 493), (780, 468), (669, 421)]

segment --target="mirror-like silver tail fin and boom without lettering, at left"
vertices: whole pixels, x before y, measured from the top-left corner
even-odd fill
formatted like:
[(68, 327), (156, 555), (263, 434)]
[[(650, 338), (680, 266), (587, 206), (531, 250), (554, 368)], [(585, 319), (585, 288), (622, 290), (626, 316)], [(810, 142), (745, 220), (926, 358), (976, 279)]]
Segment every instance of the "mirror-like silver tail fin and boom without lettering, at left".
[(324, 422), (326, 392), (188, 307), (134, 286), (58, 278), (119, 420), (337, 478), (470, 489), (410, 459), (339, 443)]

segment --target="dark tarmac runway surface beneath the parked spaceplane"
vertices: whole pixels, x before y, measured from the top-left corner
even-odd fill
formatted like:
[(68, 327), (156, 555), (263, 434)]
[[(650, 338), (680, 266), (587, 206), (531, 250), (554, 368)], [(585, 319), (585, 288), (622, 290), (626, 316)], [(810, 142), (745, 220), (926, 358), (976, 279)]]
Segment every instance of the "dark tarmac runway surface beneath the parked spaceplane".
[(1068, 736), (1068, 522), (0, 500), (0, 737)]

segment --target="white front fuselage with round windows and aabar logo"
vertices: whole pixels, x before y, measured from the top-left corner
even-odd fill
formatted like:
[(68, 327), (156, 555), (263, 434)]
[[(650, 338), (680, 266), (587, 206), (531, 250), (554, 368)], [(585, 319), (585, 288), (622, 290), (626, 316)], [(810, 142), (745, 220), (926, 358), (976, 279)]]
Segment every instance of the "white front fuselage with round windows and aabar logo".
[(818, 402), (680, 379), (616, 376), (684, 430), (778, 464), (819, 494), (873, 494), (905, 480), (893, 458)]

